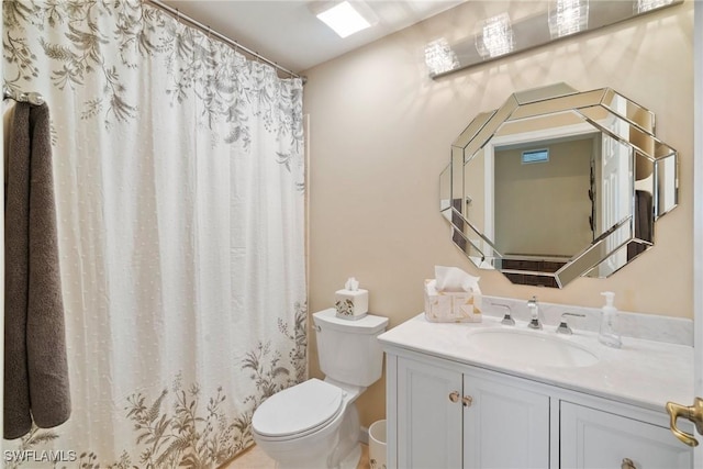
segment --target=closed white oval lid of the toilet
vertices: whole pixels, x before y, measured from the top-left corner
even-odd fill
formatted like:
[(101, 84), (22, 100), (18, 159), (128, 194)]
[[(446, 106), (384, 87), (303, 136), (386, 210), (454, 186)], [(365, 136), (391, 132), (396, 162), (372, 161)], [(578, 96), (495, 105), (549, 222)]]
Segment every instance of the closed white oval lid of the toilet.
[(339, 414), (343, 397), (342, 389), (313, 378), (268, 398), (254, 412), (252, 426), (270, 437), (310, 432)]

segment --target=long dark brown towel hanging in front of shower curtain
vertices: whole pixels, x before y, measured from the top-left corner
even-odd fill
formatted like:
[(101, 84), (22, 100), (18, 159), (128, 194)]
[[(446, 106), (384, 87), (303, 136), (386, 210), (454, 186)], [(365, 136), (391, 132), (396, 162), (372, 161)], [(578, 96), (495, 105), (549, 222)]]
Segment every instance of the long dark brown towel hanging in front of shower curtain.
[(49, 113), (18, 102), (5, 189), (4, 428), (8, 439), (70, 415)]

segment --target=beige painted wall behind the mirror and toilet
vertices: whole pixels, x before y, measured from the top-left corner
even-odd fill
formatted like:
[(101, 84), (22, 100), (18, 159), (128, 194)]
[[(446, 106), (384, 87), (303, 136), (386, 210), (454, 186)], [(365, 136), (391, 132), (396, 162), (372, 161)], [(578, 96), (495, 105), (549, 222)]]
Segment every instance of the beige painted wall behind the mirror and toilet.
[[(540, 4), (542, 3), (542, 4)], [(507, 3), (470, 1), (308, 70), (310, 114), (310, 311), (332, 306), (349, 276), (370, 291), (372, 313), (395, 326), (423, 310), (423, 279), (435, 265), (481, 276), (486, 294), (600, 306), (615, 291), (621, 310), (692, 317), (693, 2), (555, 45), (427, 77), (424, 45), (476, 30)], [(513, 20), (544, 2), (513, 2)], [(680, 206), (660, 220), (656, 246), (609, 279), (563, 290), (513, 286), (479, 271), (453, 245), (438, 212), (449, 146), (473, 116), (518, 90), (565, 81), (612, 87), (657, 115), (657, 135), (680, 152)], [(311, 373), (321, 376), (314, 334)], [(384, 383), (359, 399), (361, 423), (384, 415)]]

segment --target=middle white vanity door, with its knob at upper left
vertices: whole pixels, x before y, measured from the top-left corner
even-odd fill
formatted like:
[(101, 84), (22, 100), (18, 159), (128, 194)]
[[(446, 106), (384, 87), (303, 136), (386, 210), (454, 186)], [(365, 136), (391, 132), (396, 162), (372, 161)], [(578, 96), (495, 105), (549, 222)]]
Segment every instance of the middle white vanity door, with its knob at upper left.
[(468, 469), (549, 467), (549, 397), (465, 373), (464, 464)]

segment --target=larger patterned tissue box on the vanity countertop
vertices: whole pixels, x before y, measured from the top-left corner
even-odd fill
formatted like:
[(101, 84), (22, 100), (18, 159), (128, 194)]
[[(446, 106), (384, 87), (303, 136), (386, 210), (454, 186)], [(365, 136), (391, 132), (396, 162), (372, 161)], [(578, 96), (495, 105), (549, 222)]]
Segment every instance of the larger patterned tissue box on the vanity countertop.
[(425, 280), (425, 317), (435, 323), (480, 323), (481, 290), (437, 291), (435, 280)]

